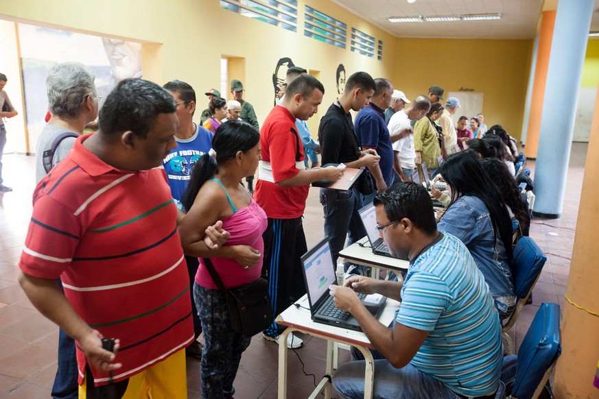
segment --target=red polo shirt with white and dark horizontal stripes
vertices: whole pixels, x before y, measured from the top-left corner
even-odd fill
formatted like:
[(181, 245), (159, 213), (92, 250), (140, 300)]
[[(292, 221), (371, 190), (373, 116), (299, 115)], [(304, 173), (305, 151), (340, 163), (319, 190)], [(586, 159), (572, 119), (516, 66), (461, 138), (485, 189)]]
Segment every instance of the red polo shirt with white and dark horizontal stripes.
[[(189, 276), (164, 171), (115, 169), (82, 145), (89, 136), (36, 186), (19, 267), (62, 278), (82, 319), (121, 340), (118, 381), (193, 340)], [(82, 383), (80, 345), (77, 360)], [(108, 374), (91, 370), (95, 385), (108, 383)]]

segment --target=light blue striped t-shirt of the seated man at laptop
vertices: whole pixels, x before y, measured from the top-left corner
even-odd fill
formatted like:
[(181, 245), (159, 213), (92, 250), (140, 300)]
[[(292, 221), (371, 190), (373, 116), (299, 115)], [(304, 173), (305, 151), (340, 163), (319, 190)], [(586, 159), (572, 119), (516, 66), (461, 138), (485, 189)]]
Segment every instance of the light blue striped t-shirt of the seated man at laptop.
[(497, 389), (501, 326), (489, 287), (465, 245), (451, 234), (410, 265), (396, 322), (430, 331), (411, 363), (465, 396)]

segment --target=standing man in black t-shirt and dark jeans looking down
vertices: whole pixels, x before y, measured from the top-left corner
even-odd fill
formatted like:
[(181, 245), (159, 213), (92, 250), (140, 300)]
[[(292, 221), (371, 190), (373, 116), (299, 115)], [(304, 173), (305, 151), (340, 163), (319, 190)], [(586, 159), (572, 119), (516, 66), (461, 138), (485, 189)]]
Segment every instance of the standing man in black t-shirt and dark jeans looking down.
[[(349, 77), (343, 94), (320, 120), (318, 141), (322, 165), (344, 163), (347, 167), (366, 167), (377, 183), (377, 189), (387, 188), (375, 149), (366, 149), (358, 142), (353, 130), (350, 110), (359, 111), (368, 105), (375, 93), (375, 80), (366, 72), (356, 72)], [(333, 261), (337, 262), (349, 232), (348, 245), (366, 235), (357, 210), (362, 208), (362, 198), (353, 184), (347, 191), (320, 189), (320, 204), (325, 213), (325, 234), (331, 240)]]

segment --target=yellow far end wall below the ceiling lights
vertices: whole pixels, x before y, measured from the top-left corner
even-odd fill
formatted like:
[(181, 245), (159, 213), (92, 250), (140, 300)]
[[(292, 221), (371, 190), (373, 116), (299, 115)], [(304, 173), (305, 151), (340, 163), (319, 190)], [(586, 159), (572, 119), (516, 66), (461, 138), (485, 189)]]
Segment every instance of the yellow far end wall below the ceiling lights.
[(484, 93), (484, 123), (500, 124), (520, 138), (532, 44), (532, 40), (398, 38), (393, 82), (409, 99), (426, 95), (432, 85), (445, 89), (445, 99), (450, 91), (473, 88)]

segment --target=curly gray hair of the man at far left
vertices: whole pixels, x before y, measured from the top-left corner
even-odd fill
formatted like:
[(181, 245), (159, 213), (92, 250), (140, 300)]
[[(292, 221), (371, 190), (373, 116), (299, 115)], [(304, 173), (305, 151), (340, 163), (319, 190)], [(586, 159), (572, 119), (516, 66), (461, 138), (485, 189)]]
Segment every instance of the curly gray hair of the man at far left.
[(65, 119), (79, 117), (86, 97), (96, 95), (94, 79), (91, 68), (79, 62), (54, 65), (46, 77), (50, 112)]

